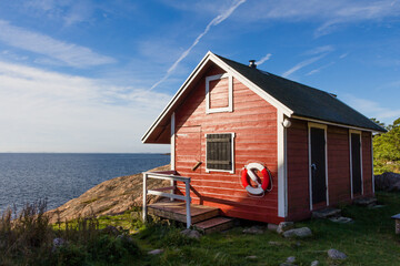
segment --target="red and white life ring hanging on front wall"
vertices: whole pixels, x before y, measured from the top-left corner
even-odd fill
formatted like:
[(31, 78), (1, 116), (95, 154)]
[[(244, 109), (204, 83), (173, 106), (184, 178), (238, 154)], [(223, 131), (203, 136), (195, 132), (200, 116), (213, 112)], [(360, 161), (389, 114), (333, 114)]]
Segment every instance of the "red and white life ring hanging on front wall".
[[(262, 174), (262, 184), (259, 182), (259, 176), (254, 173), (254, 170), (258, 170)], [(253, 187), (250, 184), (249, 177), (257, 184), (257, 187)], [(249, 163), (244, 165), (241, 172), (241, 183), (246, 191), (251, 195), (263, 194), (270, 183), (271, 174), (270, 172), (260, 163)]]

